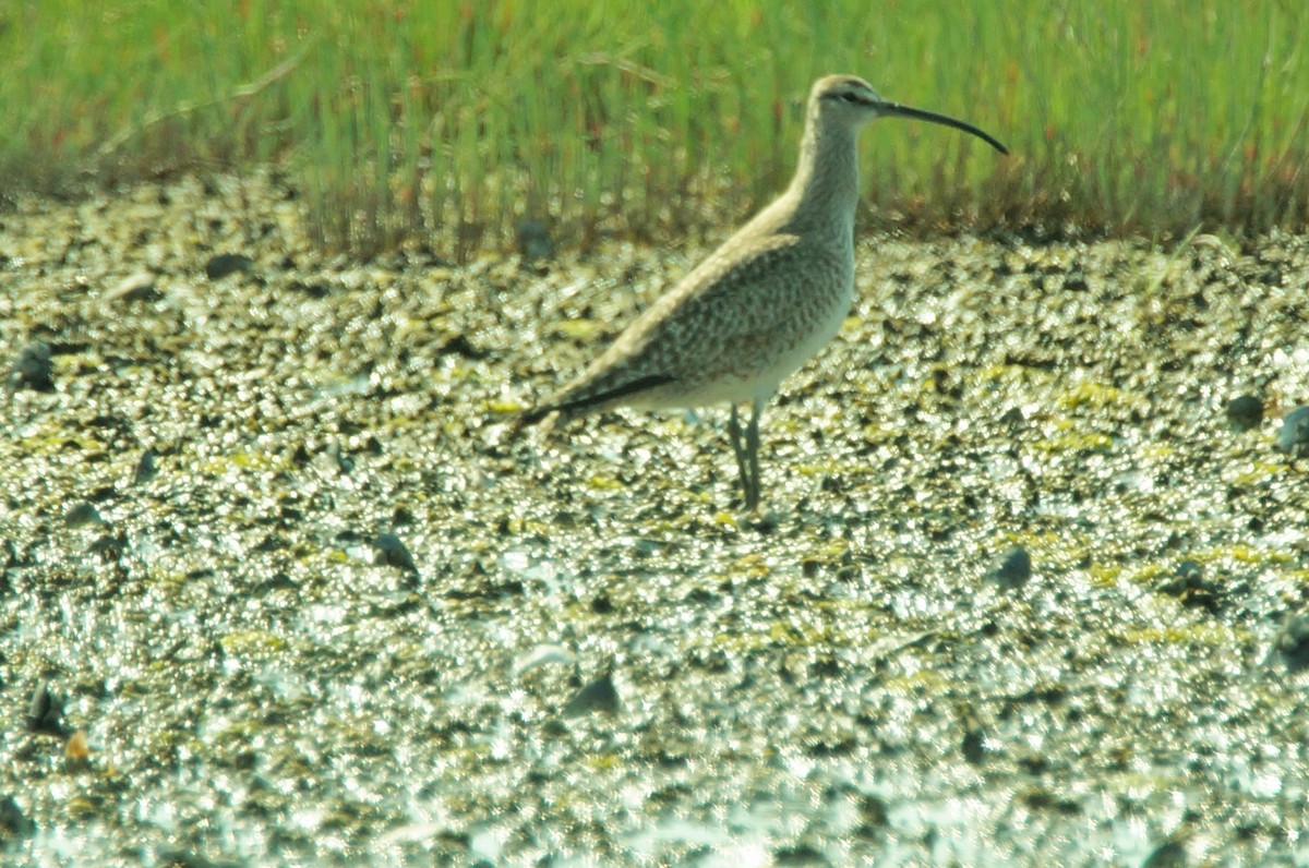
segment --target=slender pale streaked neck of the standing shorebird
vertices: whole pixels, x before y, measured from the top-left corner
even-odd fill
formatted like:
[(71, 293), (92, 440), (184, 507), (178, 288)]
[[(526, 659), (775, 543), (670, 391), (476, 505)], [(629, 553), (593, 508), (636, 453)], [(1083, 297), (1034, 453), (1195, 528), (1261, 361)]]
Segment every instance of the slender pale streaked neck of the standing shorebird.
[(810, 117), (800, 141), (800, 164), (787, 195), (795, 200), (795, 223), (802, 230), (851, 236), (859, 204), (857, 130), (822, 130)]

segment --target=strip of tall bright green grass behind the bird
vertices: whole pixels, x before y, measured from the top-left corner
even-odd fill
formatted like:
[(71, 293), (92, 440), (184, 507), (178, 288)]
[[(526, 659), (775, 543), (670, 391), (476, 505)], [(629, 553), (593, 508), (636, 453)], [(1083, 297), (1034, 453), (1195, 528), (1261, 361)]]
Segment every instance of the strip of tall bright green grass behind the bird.
[(992, 132), (864, 134), (863, 225), (1179, 233), (1309, 215), (1299, 3), (0, 5), (5, 192), (287, 166), (322, 240), (466, 253), (724, 226), (778, 192), (814, 77)]

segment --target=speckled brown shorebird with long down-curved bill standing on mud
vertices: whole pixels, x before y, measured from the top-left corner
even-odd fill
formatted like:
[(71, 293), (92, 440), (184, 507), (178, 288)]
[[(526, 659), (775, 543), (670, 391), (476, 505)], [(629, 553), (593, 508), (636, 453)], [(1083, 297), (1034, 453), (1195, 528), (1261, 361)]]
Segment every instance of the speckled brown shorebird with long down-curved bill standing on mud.
[[(546, 428), (618, 406), (730, 403), (728, 435), (746, 511), (759, 505), (759, 415), (781, 381), (818, 352), (855, 292), (859, 130), (916, 118), (1008, 149), (973, 124), (882, 99), (863, 79), (814, 82), (791, 186), (637, 317), (576, 380), (526, 411)], [(750, 405), (741, 429), (740, 405)]]

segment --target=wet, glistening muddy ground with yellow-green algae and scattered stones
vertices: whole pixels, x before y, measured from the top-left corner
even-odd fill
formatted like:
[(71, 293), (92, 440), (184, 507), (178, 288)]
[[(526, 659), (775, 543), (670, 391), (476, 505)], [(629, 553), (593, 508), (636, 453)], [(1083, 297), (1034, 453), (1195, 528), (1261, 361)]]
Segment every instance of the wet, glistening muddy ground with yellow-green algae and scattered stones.
[(576, 246), (0, 215), (9, 859), (1309, 864), (1309, 238), (860, 238), (762, 516), (720, 408), (511, 437), (704, 253)]

